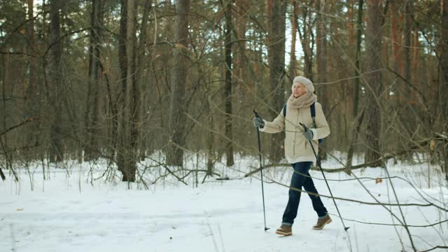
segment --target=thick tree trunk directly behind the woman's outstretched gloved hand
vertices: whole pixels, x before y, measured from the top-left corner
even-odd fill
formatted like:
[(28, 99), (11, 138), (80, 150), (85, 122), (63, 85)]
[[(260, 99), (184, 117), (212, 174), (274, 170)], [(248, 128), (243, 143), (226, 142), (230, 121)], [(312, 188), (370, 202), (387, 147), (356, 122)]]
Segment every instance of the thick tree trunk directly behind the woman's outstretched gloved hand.
[[(268, 10), (267, 62), (269, 65), (269, 118), (276, 118), (283, 108), (285, 92), (285, 31), (286, 31), (286, 1), (272, 1), (272, 9)], [(284, 133), (269, 136), (271, 144), (269, 159), (279, 162), (283, 157)]]

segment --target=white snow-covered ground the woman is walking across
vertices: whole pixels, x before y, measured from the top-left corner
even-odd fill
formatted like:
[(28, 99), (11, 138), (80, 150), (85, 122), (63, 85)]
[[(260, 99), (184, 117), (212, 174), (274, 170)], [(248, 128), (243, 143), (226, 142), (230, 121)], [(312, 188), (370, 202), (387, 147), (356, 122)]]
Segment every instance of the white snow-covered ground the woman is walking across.
[[(257, 159), (240, 157), (230, 169), (218, 164), (216, 172), (241, 177), (239, 171), (258, 167)], [(195, 162), (190, 161), (190, 167), (196, 167)], [(340, 166), (333, 159), (324, 162), (323, 167)], [(23, 167), (16, 169), (19, 183), (11, 176), (0, 181), (0, 251), (412, 251), (405, 228), (367, 224), (397, 224), (387, 209), (402, 220), (398, 207), (337, 200), (344, 223), (350, 227), (345, 232), (332, 200), (324, 198), (333, 222), (323, 230), (312, 230), (316, 214), (303, 193), (293, 236), (275, 235), (288, 200), (288, 188), (279, 183), (289, 183), (290, 167), (265, 169), (266, 224), (270, 228), (266, 232), (259, 173), (231, 181), (207, 179), (205, 183), (201, 183), (200, 174), (197, 187), (193, 176), (186, 180), (188, 186), (167, 176), (152, 185), (151, 181), (160, 172), (165, 174), (165, 169), (148, 167), (144, 174), (146, 189), (143, 183), (120, 182), (118, 176), (109, 180), (106, 175), (101, 177), (106, 163), (97, 163), (92, 172), (90, 168), (88, 163), (76, 162), (45, 167), (47, 180), (43, 181), (42, 167), (36, 164), (29, 172)], [(430, 188), (427, 164), (390, 163), (388, 170), (391, 176), (411, 182), (418, 190), (402, 179), (393, 179), (401, 204), (433, 202), (448, 209), (447, 184), (435, 167), (430, 167)], [(319, 193), (330, 195), (321, 172), (310, 173), (316, 178)], [(335, 197), (360, 202), (375, 202), (375, 197), (385, 203), (396, 202), (388, 179), (382, 183), (374, 180), (386, 176), (384, 169), (357, 169), (354, 174), (359, 181), (342, 172), (325, 174)], [(91, 183), (91, 179), (97, 180)], [(342, 181), (346, 179), (352, 180)], [(430, 227), (409, 227), (419, 251), (448, 246), (447, 211), (415, 206), (401, 210), (408, 225), (445, 221)]]

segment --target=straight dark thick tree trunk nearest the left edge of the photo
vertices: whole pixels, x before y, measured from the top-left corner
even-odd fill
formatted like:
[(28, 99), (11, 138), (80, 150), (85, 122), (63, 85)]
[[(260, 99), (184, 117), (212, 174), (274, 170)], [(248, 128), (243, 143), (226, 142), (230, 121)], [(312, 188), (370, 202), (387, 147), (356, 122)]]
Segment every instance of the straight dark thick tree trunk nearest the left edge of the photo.
[(63, 160), (62, 142), (62, 71), (61, 56), (62, 42), (60, 41), (59, 8), (62, 1), (50, 1), (50, 49), (47, 76), (50, 83), (50, 104), (54, 104), (53, 114), (50, 116), (50, 162), (61, 162)]

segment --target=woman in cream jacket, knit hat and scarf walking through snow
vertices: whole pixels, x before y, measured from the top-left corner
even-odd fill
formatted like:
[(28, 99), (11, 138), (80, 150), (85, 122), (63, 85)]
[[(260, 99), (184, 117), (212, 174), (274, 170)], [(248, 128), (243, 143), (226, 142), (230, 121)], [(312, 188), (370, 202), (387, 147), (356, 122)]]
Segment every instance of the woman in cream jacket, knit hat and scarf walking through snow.
[[(261, 132), (278, 133), (286, 132), (285, 137), (285, 155), (288, 162), (291, 163), (294, 173), (290, 183), (289, 200), (283, 213), (281, 227), (276, 230), (277, 235), (293, 235), (292, 226), (297, 216), (297, 209), (300, 202), (300, 192), (294, 189), (304, 190), (310, 193), (317, 193), (313, 180), (309, 176), (309, 168), (313, 162), (316, 162), (313, 150), (309, 146), (309, 140), (314, 145), (316, 153), (318, 151), (318, 139), (323, 139), (330, 134), (327, 120), (323, 115), (322, 106), (317, 101), (314, 94), (314, 85), (311, 80), (297, 76), (293, 80), (293, 94), (288, 99), (286, 111), (281, 111), (274, 121), (267, 122), (261, 118), (253, 118), (253, 125), (260, 128)], [(311, 118), (311, 105), (314, 104), (316, 118), (313, 125)], [(286, 116), (283, 116), (286, 115)], [(309, 125), (309, 130), (304, 131), (300, 125)], [(314, 211), (318, 216), (318, 221), (313, 229), (321, 230), (325, 224), (331, 222), (327, 209), (323, 206), (321, 198), (309, 195), (313, 204)]]

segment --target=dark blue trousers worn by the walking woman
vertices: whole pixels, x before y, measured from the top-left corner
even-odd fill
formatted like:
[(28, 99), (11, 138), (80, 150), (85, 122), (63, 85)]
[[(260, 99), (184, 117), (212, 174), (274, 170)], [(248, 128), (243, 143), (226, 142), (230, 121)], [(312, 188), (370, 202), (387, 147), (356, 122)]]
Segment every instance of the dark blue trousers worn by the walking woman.
[[(311, 168), (312, 162), (297, 162), (292, 164), (294, 169), (294, 174), (291, 179), (291, 188), (297, 188), (310, 193), (317, 193), (316, 187), (314, 186), (313, 179), (309, 176), (309, 169)], [(303, 176), (304, 174), (305, 176)], [(283, 224), (293, 225), (294, 219), (297, 216), (297, 209), (299, 208), (300, 193), (297, 190), (289, 190), (289, 200), (286, 205), (285, 212), (283, 214)], [(325, 216), (327, 214), (327, 209), (323, 207), (321, 197), (309, 195), (311, 202), (313, 203), (314, 211), (316, 211), (318, 217)]]

